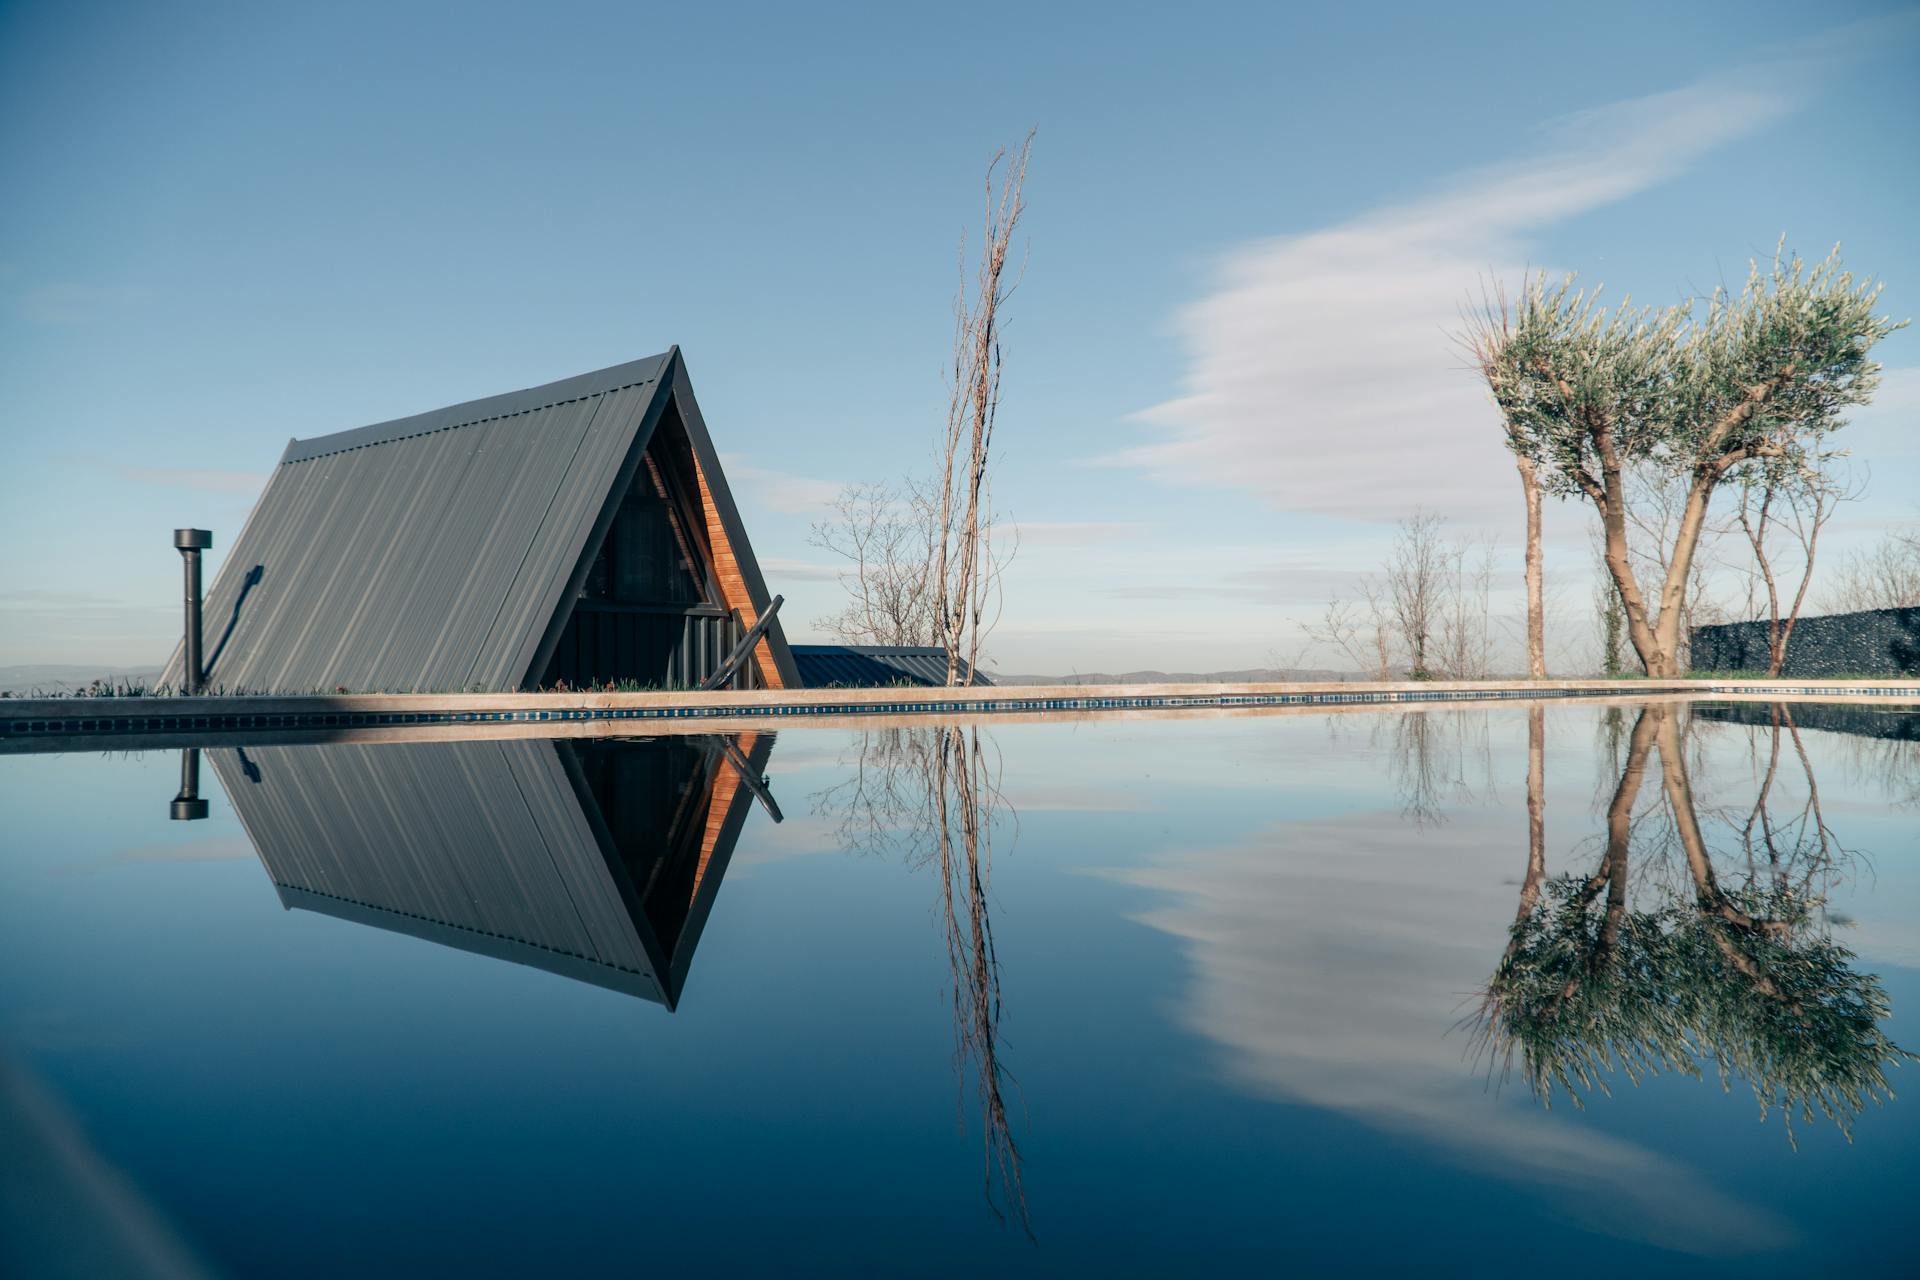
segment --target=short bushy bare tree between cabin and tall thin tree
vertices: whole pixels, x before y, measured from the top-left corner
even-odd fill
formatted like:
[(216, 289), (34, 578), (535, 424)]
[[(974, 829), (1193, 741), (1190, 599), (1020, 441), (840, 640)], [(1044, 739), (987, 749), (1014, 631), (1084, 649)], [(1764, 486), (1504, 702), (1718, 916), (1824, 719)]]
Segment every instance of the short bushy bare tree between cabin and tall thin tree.
[(935, 510), (924, 482), (851, 484), (806, 541), (847, 560), (847, 606), (814, 626), (849, 645), (937, 645)]

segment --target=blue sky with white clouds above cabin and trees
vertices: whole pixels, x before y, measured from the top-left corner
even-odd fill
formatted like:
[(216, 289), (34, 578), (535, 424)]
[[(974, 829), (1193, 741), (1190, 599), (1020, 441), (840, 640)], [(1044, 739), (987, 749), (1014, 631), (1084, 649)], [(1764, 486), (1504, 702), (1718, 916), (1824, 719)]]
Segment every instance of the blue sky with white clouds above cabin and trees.
[[(925, 466), (1027, 127), (993, 656), (1294, 660), (1415, 505), (1517, 558), (1446, 332), (1476, 274), (1668, 301), (1788, 234), (1920, 311), (1916, 69), (1920, 8), (1834, 2), (4, 4), (0, 664), (159, 662), (169, 530), (230, 541), (288, 438), (670, 344), (793, 622), (829, 612), (808, 522)], [(1836, 551), (1920, 516), (1920, 336), (1882, 357)], [(1584, 512), (1549, 535), (1578, 603)]]

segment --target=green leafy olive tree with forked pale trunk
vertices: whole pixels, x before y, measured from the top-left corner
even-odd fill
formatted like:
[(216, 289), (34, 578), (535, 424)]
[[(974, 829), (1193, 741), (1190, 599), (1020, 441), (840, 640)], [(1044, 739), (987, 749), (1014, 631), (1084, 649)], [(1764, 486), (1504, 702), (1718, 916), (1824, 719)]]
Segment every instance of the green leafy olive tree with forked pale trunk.
[[(1755, 461), (1818, 451), (1851, 405), (1878, 386), (1876, 342), (1895, 328), (1874, 313), (1880, 286), (1857, 280), (1837, 251), (1809, 267), (1755, 263), (1738, 294), (1701, 311), (1611, 311), (1599, 292), (1530, 278), (1488, 388), (1509, 447), (1534, 461), (1557, 497), (1584, 497), (1601, 522), (1601, 557), (1647, 676), (1680, 676), (1684, 597), (1720, 484)], [(1628, 476), (1649, 468), (1682, 489), (1680, 516), (1647, 593), (1628, 555)]]

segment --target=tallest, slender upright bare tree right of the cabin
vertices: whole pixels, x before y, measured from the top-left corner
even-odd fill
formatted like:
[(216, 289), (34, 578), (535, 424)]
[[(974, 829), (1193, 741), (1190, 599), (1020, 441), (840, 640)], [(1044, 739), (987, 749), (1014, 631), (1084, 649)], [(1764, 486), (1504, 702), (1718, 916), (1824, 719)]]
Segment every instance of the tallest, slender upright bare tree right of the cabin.
[[(1006, 280), (1006, 255), (1025, 211), (1023, 186), (1033, 132), (1008, 152), (995, 152), (987, 165), (987, 215), (979, 269), (968, 290), (960, 282), (954, 301), (952, 399), (941, 451), (939, 537), (935, 545), (935, 618), (947, 645), (947, 683), (973, 683), (979, 643), (991, 628), (987, 608), (996, 601), (993, 566), (993, 497), (989, 462), (993, 426), (1000, 409), (1000, 309), (1018, 286)], [(996, 186), (998, 184), (998, 186)]]

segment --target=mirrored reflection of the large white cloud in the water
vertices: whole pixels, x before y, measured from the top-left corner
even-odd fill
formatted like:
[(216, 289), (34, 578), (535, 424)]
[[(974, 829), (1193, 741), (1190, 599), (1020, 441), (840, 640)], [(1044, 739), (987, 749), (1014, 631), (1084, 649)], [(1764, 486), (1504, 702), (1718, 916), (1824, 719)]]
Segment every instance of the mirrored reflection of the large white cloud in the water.
[[(1549, 1194), (1582, 1226), (1668, 1249), (1784, 1247), (1793, 1228), (1697, 1173), (1569, 1117), (1500, 1098), (1450, 1034), (1505, 944), (1524, 829), (1463, 812), (1409, 841), (1384, 816), (1288, 823), (1242, 846), (1125, 871), (1187, 944), (1181, 1021), (1275, 1098), (1415, 1134)], [(1511, 864), (1511, 865), (1509, 865)]]

